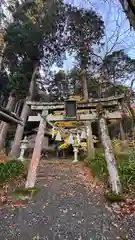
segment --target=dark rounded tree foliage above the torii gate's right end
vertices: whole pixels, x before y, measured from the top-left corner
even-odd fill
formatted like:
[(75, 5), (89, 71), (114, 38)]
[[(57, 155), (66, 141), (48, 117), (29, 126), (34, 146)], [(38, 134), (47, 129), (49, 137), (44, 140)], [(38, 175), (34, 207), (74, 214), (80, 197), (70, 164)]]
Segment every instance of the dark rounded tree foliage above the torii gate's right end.
[(103, 77), (100, 88), (106, 89), (100, 92), (100, 97), (125, 94), (128, 87), (123, 83), (132, 78), (134, 69), (135, 60), (130, 58), (123, 49), (105, 55), (98, 69)]

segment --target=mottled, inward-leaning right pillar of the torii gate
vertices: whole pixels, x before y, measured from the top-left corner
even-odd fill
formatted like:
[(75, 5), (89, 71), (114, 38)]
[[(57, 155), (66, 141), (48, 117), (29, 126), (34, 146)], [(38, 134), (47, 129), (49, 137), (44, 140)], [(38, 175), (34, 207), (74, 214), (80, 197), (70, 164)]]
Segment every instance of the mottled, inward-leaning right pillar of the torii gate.
[(101, 141), (104, 148), (105, 160), (107, 163), (108, 173), (110, 177), (110, 185), (112, 191), (116, 194), (119, 194), (121, 192), (121, 183), (116, 167), (116, 159), (114, 157), (111, 139), (103, 113), (103, 107), (101, 104), (97, 106), (97, 114), (101, 132)]

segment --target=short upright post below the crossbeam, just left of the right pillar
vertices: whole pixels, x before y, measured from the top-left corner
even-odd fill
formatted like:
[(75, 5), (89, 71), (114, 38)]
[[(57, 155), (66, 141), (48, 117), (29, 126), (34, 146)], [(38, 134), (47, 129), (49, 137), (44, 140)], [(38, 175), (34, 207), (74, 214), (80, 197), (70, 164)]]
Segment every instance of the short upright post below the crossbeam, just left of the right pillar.
[(94, 158), (95, 149), (94, 149), (94, 143), (93, 143), (91, 121), (87, 122), (87, 149), (88, 149), (88, 157), (90, 159)]

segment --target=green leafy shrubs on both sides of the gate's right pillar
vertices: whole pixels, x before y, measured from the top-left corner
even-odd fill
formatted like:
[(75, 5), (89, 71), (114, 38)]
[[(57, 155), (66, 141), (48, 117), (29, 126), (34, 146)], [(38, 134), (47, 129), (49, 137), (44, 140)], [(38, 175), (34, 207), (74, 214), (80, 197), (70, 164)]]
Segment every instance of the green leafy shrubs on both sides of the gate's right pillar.
[[(116, 164), (123, 190), (126, 190), (135, 183), (135, 160), (130, 157), (130, 154), (118, 154)], [(106, 183), (108, 182), (108, 170), (103, 150), (98, 149), (95, 159), (88, 160), (88, 165), (94, 176)]]

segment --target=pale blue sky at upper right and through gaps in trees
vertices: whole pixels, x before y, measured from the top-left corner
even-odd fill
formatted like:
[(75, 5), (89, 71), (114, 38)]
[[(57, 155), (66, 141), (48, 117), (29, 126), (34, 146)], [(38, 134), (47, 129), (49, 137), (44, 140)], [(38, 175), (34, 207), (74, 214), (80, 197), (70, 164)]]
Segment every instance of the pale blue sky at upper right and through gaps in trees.
[[(111, 50), (124, 49), (130, 57), (135, 58), (135, 32), (130, 29), (119, 0), (65, 0), (65, 2), (92, 8), (102, 16), (106, 28), (106, 44), (100, 53), (102, 56)], [(73, 57), (68, 57), (64, 62), (64, 69), (72, 68), (73, 61)], [(58, 70), (56, 66), (54, 69)]]

